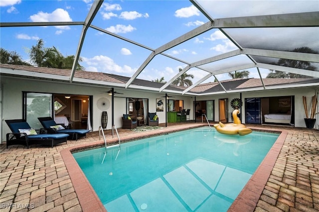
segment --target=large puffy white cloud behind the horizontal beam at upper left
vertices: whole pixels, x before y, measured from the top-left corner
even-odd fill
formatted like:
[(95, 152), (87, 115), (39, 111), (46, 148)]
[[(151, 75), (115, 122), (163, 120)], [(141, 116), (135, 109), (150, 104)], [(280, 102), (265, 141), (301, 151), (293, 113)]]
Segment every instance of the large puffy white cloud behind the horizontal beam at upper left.
[[(33, 22), (64, 22), (72, 21), (69, 13), (61, 8), (55, 9), (52, 13), (47, 12), (38, 12), (37, 14), (30, 16), (31, 21)], [(70, 29), (69, 26), (55, 26), (58, 29)]]

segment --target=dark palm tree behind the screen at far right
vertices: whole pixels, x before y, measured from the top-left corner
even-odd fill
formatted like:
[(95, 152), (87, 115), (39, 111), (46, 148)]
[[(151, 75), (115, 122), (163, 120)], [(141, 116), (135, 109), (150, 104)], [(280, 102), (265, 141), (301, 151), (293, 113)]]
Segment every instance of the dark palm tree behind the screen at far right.
[[(310, 53), (310, 54), (318, 54), (318, 52), (309, 47), (300, 47), (295, 48), (292, 52), (302, 52), (302, 53)], [(308, 61), (300, 61), (300, 60), (288, 60), (288, 59), (279, 59), (276, 65), (292, 67), (297, 69), (305, 69), (311, 71), (317, 71), (317, 68), (311, 65), (311, 62)], [(270, 73), (267, 75), (267, 78), (312, 78), (305, 75), (293, 74), (289, 72), (281, 72), (276, 70), (269, 70)]]

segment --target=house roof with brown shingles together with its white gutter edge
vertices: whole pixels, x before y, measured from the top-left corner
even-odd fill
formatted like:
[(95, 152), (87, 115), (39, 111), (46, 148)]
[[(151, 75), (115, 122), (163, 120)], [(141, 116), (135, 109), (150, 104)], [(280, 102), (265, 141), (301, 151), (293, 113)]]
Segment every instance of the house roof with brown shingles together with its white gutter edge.
[[(53, 68), (43, 68), (43, 67), (32, 67), (32, 66), (19, 66), (19, 65), (8, 65), (0, 64), (0, 74), (3, 76), (15, 76), (15, 77), (25, 77), (25, 78), (35, 78), (41, 80), (56, 80), (56, 81), (68, 81), (69, 74), (71, 70), (66, 69), (53, 69)], [(39, 75), (32, 75), (32, 73), (44, 74), (41, 77)], [(64, 78), (52, 79), (52, 76), (63, 76)], [(74, 84), (87, 84), (96, 86), (110, 86), (117, 88), (124, 88), (125, 84), (130, 80), (129, 77), (106, 74), (101, 72), (86, 72), (86, 71), (76, 71), (74, 74), (75, 80)], [(263, 85), (264, 83), (264, 85)], [(132, 85), (135, 85), (138, 90), (150, 90), (153, 88), (153, 92), (160, 92), (160, 88), (163, 86), (162, 83), (152, 82), (148, 80), (142, 80), (136, 78)], [(265, 86), (265, 88), (264, 88)], [(242, 92), (247, 89), (265, 90), (270, 89), (280, 89), (283, 88), (294, 88), (294, 87), (308, 87), (308, 86), (319, 86), (319, 79), (307, 79), (307, 78), (297, 78), (297, 79), (232, 79), (224, 80), (214, 83), (204, 83), (199, 84), (192, 88), (186, 95), (213, 95), (217, 93), (226, 92)], [(187, 88), (179, 86), (168, 86), (165, 90), (166, 93), (182, 94)]]

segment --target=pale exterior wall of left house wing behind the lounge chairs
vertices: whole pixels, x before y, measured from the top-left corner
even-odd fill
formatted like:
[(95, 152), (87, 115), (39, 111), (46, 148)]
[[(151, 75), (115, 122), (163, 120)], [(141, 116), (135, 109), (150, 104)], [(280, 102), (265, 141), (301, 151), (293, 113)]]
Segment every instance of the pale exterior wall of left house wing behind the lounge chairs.
[[(110, 107), (105, 110), (108, 113), (107, 129), (112, 128), (112, 96), (102, 93), (107, 92), (110, 87), (94, 87), (87, 85), (74, 85), (69, 83), (48, 82), (41, 80), (14, 78), (14, 77), (1, 77), (1, 142), (5, 141), (6, 133), (11, 132), (4, 120), (6, 119), (20, 119), (22, 118), (22, 92), (37, 92), (37, 93), (55, 93), (55, 94), (72, 94), (72, 95), (87, 95), (93, 96), (93, 123), (92, 130), (97, 131), (101, 125), (102, 110), (97, 106), (97, 101), (100, 98), (106, 98), (110, 102)], [(122, 127), (122, 119), (126, 113), (126, 98), (144, 98), (149, 100), (149, 112), (156, 112), (156, 99), (163, 99), (165, 102), (165, 94), (152, 93), (143, 91), (134, 91), (126, 89), (114, 89), (116, 92), (123, 93), (123, 95), (115, 95), (114, 98), (114, 124), (117, 128)], [(190, 107), (190, 97), (174, 95), (174, 99), (183, 100), (185, 108)], [(164, 104), (166, 108), (166, 104)], [(192, 108), (191, 108), (192, 109)], [(63, 110), (61, 111), (63, 113)], [(165, 123), (165, 112), (157, 112), (160, 123)], [(192, 118), (192, 117), (191, 117)]]

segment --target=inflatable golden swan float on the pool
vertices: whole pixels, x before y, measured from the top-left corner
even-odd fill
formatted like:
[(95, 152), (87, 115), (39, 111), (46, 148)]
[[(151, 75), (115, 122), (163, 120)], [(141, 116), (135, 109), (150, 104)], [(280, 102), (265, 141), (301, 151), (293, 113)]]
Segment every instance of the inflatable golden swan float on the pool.
[(229, 124), (223, 124), (219, 121), (218, 124), (214, 124), (214, 127), (216, 128), (217, 132), (227, 135), (248, 135), (252, 132), (251, 129), (247, 128), (244, 124), (241, 123), (239, 117), (237, 114), (239, 113), (238, 109), (235, 109), (233, 111), (233, 119), (234, 123)]

